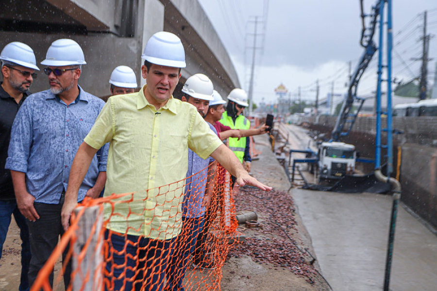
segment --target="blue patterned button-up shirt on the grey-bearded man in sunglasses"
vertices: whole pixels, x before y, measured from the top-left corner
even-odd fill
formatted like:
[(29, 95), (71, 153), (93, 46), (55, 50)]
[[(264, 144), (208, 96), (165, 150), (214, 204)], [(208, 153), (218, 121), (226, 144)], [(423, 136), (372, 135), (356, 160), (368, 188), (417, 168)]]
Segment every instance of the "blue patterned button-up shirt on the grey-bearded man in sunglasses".
[[(59, 203), (74, 156), (105, 104), (79, 90), (69, 105), (50, 90), (32, 94), (15, 118), (6, 168), (26, 173), (27, 191), (35, 202)], [(106, 171), (107, 146), (101, 147), (80, 186), (78, 201), (94, 186), (99, 172)]]

